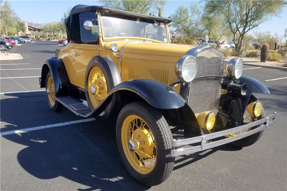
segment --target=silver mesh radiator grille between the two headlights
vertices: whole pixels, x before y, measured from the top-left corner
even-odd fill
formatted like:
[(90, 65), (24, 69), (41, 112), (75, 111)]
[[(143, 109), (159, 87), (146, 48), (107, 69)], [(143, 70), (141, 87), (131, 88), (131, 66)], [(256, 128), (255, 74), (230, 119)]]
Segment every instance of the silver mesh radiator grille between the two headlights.
[[(206, 75), (222, 76), (223, 55), (214, 48), (202, 50), (196, 55), (196, 77)], [(218, 112), (221, 78), (200, 78), (190, 83), (188, 105), (195, 115), (204, 111)]]

